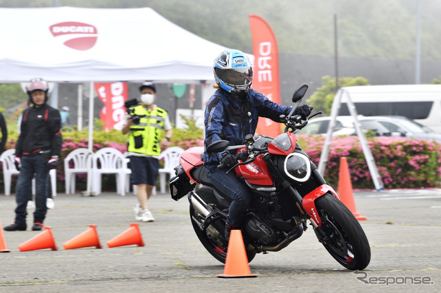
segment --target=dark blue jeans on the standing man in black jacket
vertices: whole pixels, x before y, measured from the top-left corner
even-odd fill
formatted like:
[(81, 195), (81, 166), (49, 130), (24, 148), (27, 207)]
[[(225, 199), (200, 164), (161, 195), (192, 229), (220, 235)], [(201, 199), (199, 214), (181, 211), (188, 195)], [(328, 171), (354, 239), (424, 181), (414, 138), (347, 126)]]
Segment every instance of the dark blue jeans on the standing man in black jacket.
[(34, 223), (41, 223), (46, 217), (48, 208), (46, 206), (48, 176), (49, 170), (43, 162), (41, 155), (23, 156), (21, 158), (21, 169), (19, 174), (19, 182), (17, 183), (17, 194), (15, 200), (17, 208), (15, 208), (15, 224), (25, 226), (26, 205), (29, 197), (32, 197), (32, 178), (35, 174), (35, 212)]

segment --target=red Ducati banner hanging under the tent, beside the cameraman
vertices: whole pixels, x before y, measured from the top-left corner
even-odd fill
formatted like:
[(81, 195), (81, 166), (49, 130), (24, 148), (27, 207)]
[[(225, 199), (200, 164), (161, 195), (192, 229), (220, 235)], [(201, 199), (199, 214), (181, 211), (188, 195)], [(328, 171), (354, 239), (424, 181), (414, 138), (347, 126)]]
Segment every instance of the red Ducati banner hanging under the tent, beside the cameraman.
[(127, 83), (95, 83), (96, 93), (103, 102), (100, 118), (103, 121), (103, 130), (121, 130), (125, 116), (124, 101), (128, 98)]

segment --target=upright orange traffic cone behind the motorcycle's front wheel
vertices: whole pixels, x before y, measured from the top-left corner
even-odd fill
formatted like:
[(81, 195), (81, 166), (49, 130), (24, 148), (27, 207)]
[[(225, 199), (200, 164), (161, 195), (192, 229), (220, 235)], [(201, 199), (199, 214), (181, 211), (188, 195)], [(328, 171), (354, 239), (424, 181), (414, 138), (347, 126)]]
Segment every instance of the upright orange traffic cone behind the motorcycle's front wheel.
[(356, 203), (353, 201), (351, 176), (349, 175), (349, 167), (345, 157), (340, 158), (340, 170), (338, 173), (338, 197), (358, 221), (367, 220), (367, 217), (360, 216), (357, 213)]

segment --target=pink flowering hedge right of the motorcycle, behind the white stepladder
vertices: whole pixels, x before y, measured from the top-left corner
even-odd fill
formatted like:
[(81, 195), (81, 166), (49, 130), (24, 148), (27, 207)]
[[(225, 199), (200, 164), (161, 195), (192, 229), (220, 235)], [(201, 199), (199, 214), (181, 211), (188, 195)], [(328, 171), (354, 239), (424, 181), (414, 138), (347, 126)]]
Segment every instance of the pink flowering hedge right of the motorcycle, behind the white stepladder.
[[(441, 186), (441, 144), (411, 138), (368, 138), (384, 188)], [(325, 138), (298, 135), (300, 146), (318, 166)], [(325, 180), (337, 187), (340, 158), (346, 157), (353, 188), (374, 188), (365, 155), (357, 137), (338, 137), (331, 142)]]

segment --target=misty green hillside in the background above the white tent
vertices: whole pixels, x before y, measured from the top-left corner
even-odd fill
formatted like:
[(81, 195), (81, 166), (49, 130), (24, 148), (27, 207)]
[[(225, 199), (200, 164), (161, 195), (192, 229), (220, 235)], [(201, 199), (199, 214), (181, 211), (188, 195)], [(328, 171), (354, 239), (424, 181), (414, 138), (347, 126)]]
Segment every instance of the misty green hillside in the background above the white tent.
[[(198, 36), (252, 52), (249, 14), (263, 17), (281, 53), (415, 58), (418, 0), (58, 0), (57, 6), (150, 7)], [(0, 0), (0, 7), (50, 7), (53, 0)], [(441, 1), (420, 0), (421, 58), (441, 60)], [(148, 32), (140, 32), (148, 37)], [(166, 37), (166, 36), (165, 36)], [(152, 40), (154, 41), (154, 40)], [(178, 44), (176, 44), (178, 46)]]

